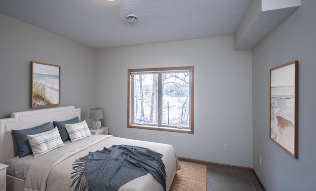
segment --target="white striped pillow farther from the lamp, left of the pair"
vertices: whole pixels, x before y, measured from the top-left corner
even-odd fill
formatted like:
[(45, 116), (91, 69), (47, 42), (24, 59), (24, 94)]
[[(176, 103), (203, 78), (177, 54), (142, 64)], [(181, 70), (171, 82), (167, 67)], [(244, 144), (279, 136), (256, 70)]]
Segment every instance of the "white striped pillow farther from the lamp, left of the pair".
[(64, 146), (58, 128), (35, 135), (27, 135), (34, 158)]

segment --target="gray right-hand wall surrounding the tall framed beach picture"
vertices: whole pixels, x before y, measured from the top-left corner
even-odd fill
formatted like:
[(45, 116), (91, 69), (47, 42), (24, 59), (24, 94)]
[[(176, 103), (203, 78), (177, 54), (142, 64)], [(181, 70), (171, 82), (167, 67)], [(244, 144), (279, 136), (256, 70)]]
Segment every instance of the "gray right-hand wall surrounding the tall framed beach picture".
[[(302, 0), (300, 7), (252, 50), (253, 168), (268, 191), (316, 188), (315, 8), (315, 0)], [(297, 159), (269, 139), (270, 69), (293, 60), (299, 62)]]

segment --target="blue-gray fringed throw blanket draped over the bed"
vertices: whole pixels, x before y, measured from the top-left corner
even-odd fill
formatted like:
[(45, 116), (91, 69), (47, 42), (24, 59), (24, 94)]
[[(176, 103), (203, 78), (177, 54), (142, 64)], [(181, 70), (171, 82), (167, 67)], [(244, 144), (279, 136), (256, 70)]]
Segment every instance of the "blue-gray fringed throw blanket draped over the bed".
[(162, 154), (147, 148), (118, 145), (89, 152), (73, 164), (75, 191), (117, 191), (127, 182), (151, 173), (166, 191)]

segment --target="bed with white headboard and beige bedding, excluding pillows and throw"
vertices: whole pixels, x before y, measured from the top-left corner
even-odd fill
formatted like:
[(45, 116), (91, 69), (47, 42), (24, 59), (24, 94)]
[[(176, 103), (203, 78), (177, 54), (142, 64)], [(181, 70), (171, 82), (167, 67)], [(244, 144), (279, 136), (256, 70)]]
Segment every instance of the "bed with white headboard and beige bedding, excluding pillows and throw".
[[(64, 146), (34, 158), (28, 154), (19, 157), (19, 151), (12, 130), (28, 129), (52, 121), (65, 121), (78, 117), (80, 109), (74, 106), (32, 110), (12, 113), (10, 118), (0, 119), (0, 163), (9, 165), (7, 169), (7, 191), (74, 191), (70, 188), (73, 180), (72, 164), (89, 152), (102, 150), (114, 145), (132, 145), (149, 148), (163, 154), (168, 191), (177, 170), (181, 169), (171, 145), (131, 140), (112, 135), (92, 135), (74, 143), (65, 141)], [(20, 166), (20, 167), (18, 167)], [(22, 169), (18, 169), (21, 168)], [(121, 186), (118, 191), (163, 191), (163, 187), (150, 174), (138, 177)]]

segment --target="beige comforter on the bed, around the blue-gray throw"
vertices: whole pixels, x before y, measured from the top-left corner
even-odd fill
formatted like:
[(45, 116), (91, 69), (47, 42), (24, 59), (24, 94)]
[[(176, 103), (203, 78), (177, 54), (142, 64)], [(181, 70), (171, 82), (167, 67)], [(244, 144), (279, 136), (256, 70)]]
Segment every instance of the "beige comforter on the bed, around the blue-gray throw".
[[(73, 172), (73, 162), (79, 157), (87, 155), (89, 151), (103, 150), (103, 147), (109, 148), (113, 145), (150, 148), (163, 154), (162, 160), (167, 174), (167, 191), (171, 186), (176, 170), (181, 169), (171, 145), (124, 139), (112, 135), (95, 135), (41, 156), (40, 160), (33, 163), (28, 170), (24, 191), (73, 191), (75, 186), (70, 188), (73, 181), (70, 179)], [(163, 191), (163, 188), (148, 173), (126, 183), (118, 191)]]

